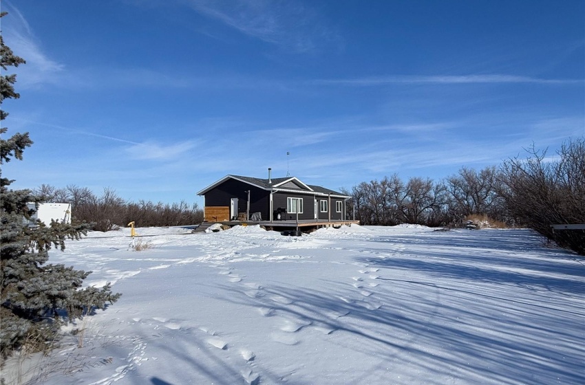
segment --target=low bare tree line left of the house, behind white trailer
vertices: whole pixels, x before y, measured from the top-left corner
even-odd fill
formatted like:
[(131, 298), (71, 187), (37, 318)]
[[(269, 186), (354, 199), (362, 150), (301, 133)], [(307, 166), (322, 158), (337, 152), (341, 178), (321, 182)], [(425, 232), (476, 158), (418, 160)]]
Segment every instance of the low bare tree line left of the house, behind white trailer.
[(70, 184), (56, 188), (42, 184), (34, 194), (43, 201), (70, 203), (72, 221), (89, 223), (91, 230), (109, 231), (134, 221), (136, 227), (193, 225), (203, 221), (203, 210), (197, 203), (153, 203), (127, 201), (112, 188), (95, 195), (87, 187)]

